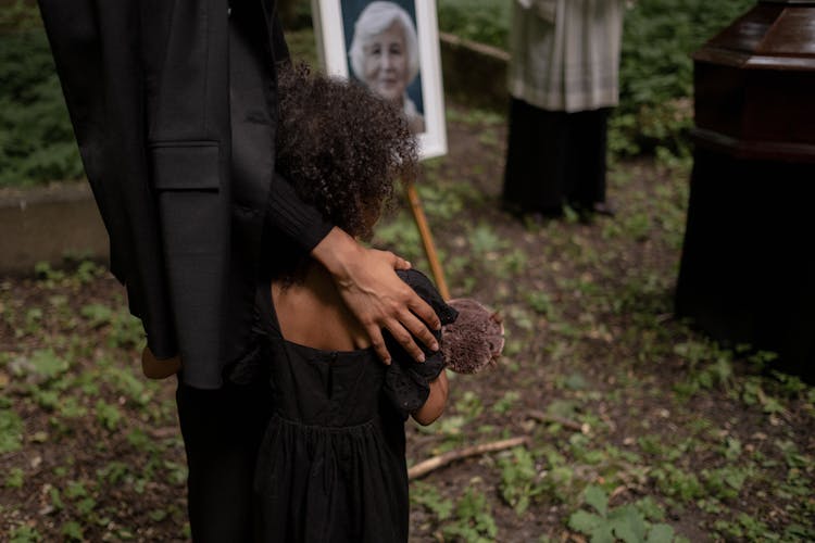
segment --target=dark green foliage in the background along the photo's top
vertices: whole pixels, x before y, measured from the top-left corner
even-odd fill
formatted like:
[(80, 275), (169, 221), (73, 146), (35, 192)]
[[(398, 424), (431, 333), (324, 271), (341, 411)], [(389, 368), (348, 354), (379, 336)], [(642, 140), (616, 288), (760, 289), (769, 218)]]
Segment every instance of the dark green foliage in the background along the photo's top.
[[(439, 26), (506, 49), (512, 2), (438, 0)], [(288, 2), (289, 26), (310, 24), (310, 2)], [(638, 0), (626, 14), (620, 104), (610, 131), (615, 156), (689, 156), (691, 53), (754, 0)], [(0, 10), (0, 187), (82, 176), (73, 131), (36, 8)]]

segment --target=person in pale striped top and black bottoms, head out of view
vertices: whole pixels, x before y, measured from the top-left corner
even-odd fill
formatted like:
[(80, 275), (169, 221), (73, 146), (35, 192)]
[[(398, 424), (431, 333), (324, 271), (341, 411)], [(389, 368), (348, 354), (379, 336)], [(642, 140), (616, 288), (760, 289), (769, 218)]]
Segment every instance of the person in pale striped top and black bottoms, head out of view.
[(560, 216), (611, 214), (607, 117), (618, 101), (625, 0), (515, 0), (503, 204)]

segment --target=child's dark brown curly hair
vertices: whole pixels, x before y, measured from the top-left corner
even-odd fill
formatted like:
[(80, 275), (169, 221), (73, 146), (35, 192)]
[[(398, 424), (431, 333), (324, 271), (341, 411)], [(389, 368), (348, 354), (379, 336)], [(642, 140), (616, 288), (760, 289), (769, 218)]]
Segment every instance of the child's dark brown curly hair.
[(394, 181), (416, 174), (406, 119), (367, 88), (304, 64), (279, 67), (278, 93), (276, 169), (331, 224), (369, 237)]

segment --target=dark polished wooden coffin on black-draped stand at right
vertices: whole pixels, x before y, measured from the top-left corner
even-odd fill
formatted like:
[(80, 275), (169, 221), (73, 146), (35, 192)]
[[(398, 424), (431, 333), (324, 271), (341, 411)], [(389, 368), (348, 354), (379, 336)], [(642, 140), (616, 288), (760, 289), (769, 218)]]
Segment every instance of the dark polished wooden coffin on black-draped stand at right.
[(676, 313), (815, 378), (815, 1), (761, 1), (694, 56)]

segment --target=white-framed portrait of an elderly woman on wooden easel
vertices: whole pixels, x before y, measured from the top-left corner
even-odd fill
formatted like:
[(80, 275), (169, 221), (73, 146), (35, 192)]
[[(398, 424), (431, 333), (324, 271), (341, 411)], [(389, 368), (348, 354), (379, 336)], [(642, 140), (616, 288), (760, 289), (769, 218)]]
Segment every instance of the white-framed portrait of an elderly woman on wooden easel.
[(326, 74), (350, 78), (404, 112), (419, 157), (447, 153), (435, 0), (312, 0)]

